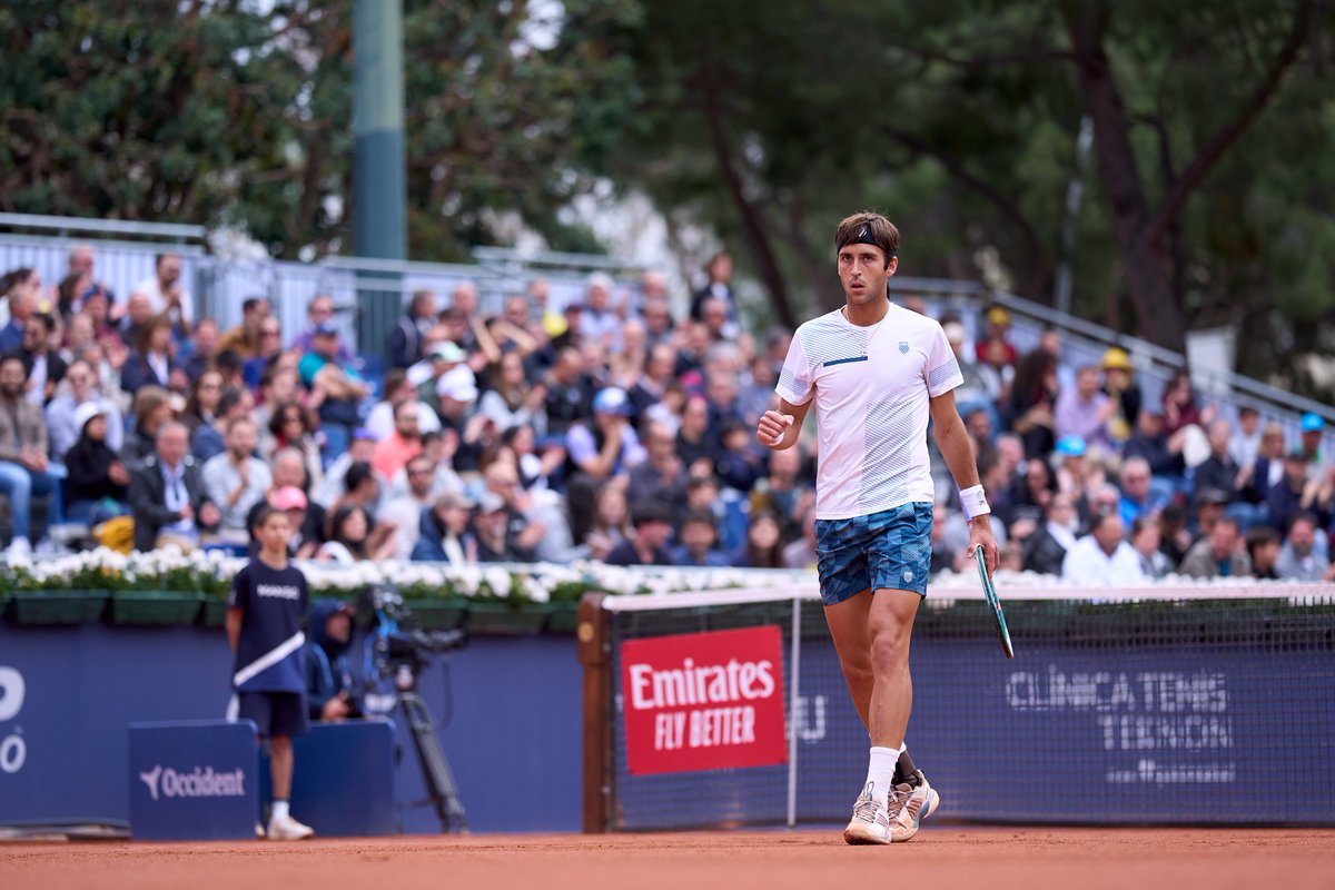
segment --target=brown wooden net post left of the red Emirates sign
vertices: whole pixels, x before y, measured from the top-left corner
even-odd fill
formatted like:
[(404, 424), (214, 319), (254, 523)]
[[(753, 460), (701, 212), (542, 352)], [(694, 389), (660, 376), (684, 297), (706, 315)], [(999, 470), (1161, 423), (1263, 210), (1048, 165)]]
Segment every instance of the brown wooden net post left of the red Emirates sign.
[(575, 640), (583, 664), (583, 831), (607, 830), (611, 751), (611, 660), (603, 594), (585, 594), (577, 612)]

